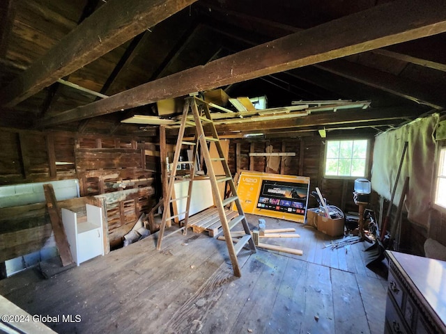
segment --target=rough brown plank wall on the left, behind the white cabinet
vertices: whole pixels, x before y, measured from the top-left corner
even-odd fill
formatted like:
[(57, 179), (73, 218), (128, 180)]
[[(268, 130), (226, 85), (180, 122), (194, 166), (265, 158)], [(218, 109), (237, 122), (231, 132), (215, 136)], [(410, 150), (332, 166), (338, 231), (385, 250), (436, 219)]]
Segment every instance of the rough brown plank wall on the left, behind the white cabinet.
[[(78, 179), (82, 197), (107, 195), (102, 197), (102, 206), (112, 247), (121, 244), (141, 212), (148, 212), (156, 202), (153, 183), (159, 154), (153, 143), (139, 138), (4, 128), (0, 128), (0, 142), (0, 185)], [(46, 218), (38, 222), (42, 228), (48, 227)], [(30, 231), (29, 224), (24, 228), (13, 224), (12, 230), (6, 228), (11, 224), (3, 225), (1, 234), (9, 237), (10, 232)], [(47, 232), (40, 239), (47, 239)]]

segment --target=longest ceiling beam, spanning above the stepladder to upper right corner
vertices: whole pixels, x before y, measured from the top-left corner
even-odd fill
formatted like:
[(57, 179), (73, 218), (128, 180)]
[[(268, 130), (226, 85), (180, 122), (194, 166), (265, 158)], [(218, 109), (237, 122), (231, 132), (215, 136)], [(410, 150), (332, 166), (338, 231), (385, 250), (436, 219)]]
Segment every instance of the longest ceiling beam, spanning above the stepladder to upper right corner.
[(444, 31), (446, 6), (443, 1), (384, 3), (45, 118), (39, 125), (57, 125), (105, 115)]

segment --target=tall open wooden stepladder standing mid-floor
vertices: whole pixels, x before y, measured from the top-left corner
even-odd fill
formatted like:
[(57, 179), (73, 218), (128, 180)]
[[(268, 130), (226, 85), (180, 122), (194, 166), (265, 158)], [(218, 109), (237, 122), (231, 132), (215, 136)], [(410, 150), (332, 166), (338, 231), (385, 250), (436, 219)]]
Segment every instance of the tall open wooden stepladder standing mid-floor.
[[(192, 115), (189, 114), (189, 109), (192, 111)], [(195, 142), (185, 142), (183, 141), (185, 127), (195, 127)], [(217, 148), (217, 152), (219, 154), (218, 158), (211, 158), (208, 148), (208, 143), (215, 143)], [(187, 193), (187, 205), (185, 212), (181, 212), (179, 214), (175, 214), (171, 216), (170, 214), (170, 204), (176, 200), (180, 200), (183, 198), (172, 198), (174, 192), (174, 182), (176, 178), (176, 166), (178, 165), (179, 157), (180, 157), (180, 148), (181, 145), (194, 145), (194, 153), (192, 161), (181, 161), (181, 164), (189, 164), (190, 165), (190, 175), (189, 175), (189, 190)], [(251, 231), (249, 230), (249, 226), (243, 212), (242, 206), (240, 205), (240, 200), (237, 196), (236, 185), (233, 182), (233, 178), (231, 176), (231, 171), (229, 170), (229, 166), (227, 164), (226, 158), (224, 157), (224, 152), (222, 150), (222, 145), (220, 145), (220, 139), (218, 138), (217, 130), (215, 129), (214, 122), (212, 117), (210, 116), (210, 111), (208, 108), (208, 104), (203, 100), (200, 100), (198, 97), (190, 97), (187, 98), (185, 102), (185, 106), (183, 109), (183, 117), (180, 122), (180, 128), (178, 130), (178, 139), (176, 143), (176, 149), (174, 154), (174, 162), (171, 168), (171, 174), (169, 175), (169, 184), (167, 186), (167, 196), (164, 198), (164, 212), (162, 214), (162, 221), (160, 225), (160, 232), (158, 234), (157, 240), (157, 249), (161, 249), (161, 242), (164, 235), (164, 230), (166, 228), (166, 224), (172, 218), (176, 218), (177, 216), (185, 215), (183, 227), (180, 230), (183, 230), (183, 234), (187, 232), (187, 218), (189, 216), (191, 195), (192, 195), (192, 184), (194, 182), (194, 177), (197, 172), (197, 166), (195, 161), (197, 161), (197, 154), (201, 150), (201, 154), (203, 155), (204, 161), (206, 163), (206, 168), (208, 170), (208, 177), (210, 180), (210, 184), (212, 186), (213, 196), (214, 196), (214, 204), (217, 207), (218, 214), (220, 216), (220, 221), (222, 223), (222, 229), (224, 233), (224, 239), (226, 241), (226, 245), (229, 251), (229, 257), (231, 259), (231, 264), (233, 267), (233, 272), (235, 276), (240, 277), (240, 266), (238, 264), (237, 255), (240, 253), (240, 250), (246, 245), (249, 244), (249, 249), (252, 252), (256, 252), (256, 246), (254, 241), (252, 240)], [(212, 161), (221, 161), (224, 169), (224, 175), (215, 175)], [(218, 184), (220, 182), (228, 182), (229, 188), (231, 189), (232, 196), (229, 198), (222, 198), (220, 195), (220, 190)], [(234, 202), (236, 204), (238, 210), (238, 216), (232, 218), (230, 221), (226, 218), (226, 214), (224, 212), (224, 207)], [(240, 239), (236, 244), (233, 243), (233, 239), (231, 237), (231, 229), (234, 228), (238, 223), (242, 223), (243, 230), (245, 234), (242, 239)], [(176, 230), (175, 232), (178, 232)]]

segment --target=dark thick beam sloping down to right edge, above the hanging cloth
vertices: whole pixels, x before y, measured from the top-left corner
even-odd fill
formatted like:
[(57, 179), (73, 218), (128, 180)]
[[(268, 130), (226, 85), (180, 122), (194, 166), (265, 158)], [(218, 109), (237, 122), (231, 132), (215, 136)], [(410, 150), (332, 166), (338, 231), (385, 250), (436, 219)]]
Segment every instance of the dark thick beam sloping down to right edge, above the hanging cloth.
[(436, 109), (446, 108), (443, 89), (427, 87), (416, 81), (400, 78), (394, 74), (344, 60), (334, 60), (315, 65), (321, 70), (337, 74), (349, 80), (384, 90), (387, 93), (424, 104)]

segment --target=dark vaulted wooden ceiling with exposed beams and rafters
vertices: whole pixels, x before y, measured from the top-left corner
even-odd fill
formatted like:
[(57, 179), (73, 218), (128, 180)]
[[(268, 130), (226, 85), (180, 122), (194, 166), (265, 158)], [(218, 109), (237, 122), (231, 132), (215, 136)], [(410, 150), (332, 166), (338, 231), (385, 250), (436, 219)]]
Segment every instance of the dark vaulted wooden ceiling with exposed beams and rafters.
[(155, 102), (231, 97), (369, 109), (220, 125), (230, 135), (374, 134), (446, 106), (446, 6), (434, 0), (3, 0), (0, 126), (155, 136)]

